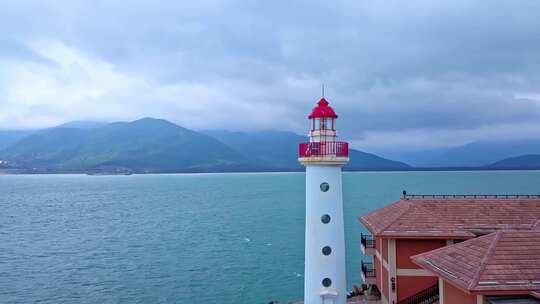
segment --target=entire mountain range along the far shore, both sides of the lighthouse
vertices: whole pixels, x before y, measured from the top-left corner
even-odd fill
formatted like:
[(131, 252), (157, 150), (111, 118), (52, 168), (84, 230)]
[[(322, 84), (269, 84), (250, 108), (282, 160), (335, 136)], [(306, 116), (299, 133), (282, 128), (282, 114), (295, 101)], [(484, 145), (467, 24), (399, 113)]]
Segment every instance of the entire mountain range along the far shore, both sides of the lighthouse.
[[(284, 131), (193, 131), (162, 119), (75, 121), (30, 131), (0, 130), (0, 169), (21, 172), (300, 171), (298, 144)], [(345, 170), (540, 169), (540, 140), (477, 141), (421, 152), (350, 149)], [(394, 161), (391, 159), (399, 159)], [(410, 165), (409, 165), (410, 164)]]

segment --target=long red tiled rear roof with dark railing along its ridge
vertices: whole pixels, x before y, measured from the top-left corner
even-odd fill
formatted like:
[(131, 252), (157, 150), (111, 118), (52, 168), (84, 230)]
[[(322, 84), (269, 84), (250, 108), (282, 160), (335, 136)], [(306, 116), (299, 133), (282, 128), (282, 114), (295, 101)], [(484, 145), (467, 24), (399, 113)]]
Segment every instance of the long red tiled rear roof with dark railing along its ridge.
[(468, 239), (500, 229), (540, 231), (540, 199), (401, 199), (360, 217), (375, 236)]

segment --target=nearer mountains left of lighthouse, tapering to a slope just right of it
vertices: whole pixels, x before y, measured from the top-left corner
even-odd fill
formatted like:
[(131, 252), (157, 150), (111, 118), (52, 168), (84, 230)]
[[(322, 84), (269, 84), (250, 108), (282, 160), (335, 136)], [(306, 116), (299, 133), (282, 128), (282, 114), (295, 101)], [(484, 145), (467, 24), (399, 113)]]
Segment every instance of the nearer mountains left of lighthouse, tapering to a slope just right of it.
[[(37, 131), (0, 133), (0, 160), (22, 172), (299, 171), (291, 132), (196, 132), (169, 121), (68, 123)], [(405, 170), (409, 166), (350, 150), (348, 170)]]

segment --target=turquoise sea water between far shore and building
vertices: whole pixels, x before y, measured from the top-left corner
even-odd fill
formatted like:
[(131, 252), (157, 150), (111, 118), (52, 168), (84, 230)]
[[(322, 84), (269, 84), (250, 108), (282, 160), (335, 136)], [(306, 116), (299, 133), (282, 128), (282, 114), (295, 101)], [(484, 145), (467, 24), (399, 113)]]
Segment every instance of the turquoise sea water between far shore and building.
[[(540, 193), (540, 172), (345, 173), (357, 217), (410, 193)], [(0, 176), (0, 303), (302, 298), (304, 175)]]

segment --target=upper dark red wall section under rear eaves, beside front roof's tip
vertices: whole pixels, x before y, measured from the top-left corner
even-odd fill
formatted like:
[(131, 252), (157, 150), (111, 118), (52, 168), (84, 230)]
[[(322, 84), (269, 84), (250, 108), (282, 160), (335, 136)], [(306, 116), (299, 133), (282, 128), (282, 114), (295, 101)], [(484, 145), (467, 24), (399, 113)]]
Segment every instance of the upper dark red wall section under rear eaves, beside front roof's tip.
[(411, 256), (446, 246), (446, 240), (396, 240), (397, 268), (419, 269), (420, 266), (411, 261)]

